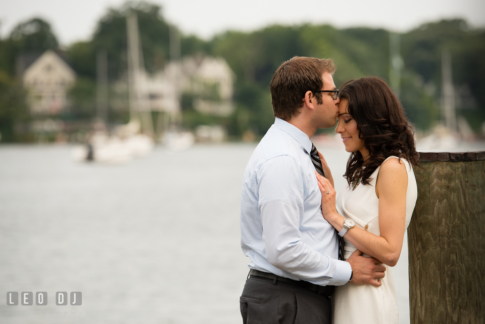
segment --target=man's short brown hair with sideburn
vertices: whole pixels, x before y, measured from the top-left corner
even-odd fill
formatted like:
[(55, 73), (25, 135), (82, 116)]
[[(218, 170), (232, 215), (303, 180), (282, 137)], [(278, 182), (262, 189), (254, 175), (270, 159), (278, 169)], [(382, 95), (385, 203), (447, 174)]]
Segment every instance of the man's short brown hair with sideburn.
[[(300, 113), (305, 93), (323, 88), (322, 74), (335, 72), (332, 59), (299, 57), (283, 62), (271, 79), (271, 103), (275, 117), (290, 120)], [(321, 104), (321, 94), (316, 95)]]

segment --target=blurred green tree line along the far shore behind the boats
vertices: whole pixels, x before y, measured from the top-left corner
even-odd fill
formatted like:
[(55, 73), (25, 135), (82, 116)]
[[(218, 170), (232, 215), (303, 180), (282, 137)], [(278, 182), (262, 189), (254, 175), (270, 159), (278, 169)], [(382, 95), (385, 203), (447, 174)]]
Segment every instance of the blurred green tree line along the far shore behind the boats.
[[(51, 26), (33, 18), (17, 25), (0, 39), (0, 132), (2, 141), (28, 141), (16, 131), (16, 124), (31, 120), (25, 102), (26, 90), (16, 73), (20, 55), (57, 51), (77, 73), (69, 92), (71, 107), (59, 118), (89, 121), (96, 114), (96, 53), (106, 51), (108, 79), (114, 83), (127, 71), (126, 15), (138, 17), (144, 65), (149, 73), (163, 69), (170, 60), (170, 26), (160, 6), (128, 2), (111, 8), (98, 21), (86, 41), (60, 50)], [(441, 101), (441, 56), (452, 57), (457, 114), (465, 117), (479, 132), (485, 121), (485, 30), (470, 27), (461, 19), (430, 22), (400, 33), (400, 99), (407, 116), (419, 130), (439, 122)], [(203, 40), (181, 34), (181, 56), (199, 55), (224, 58), (236, 78), (235, 112), (229, 117), (202, 115), (191, 107), (188, 94), (182, 97), (183, 126), (224, 125), (230, 136), (252, 131), (262, 136), (273, 123), (269, 82), (276, 68), (294, 56), (333, 58), (337, 71), (335, 84), (367, 75), (389, 80), (391, 69), (390, 32), (373, 28), (337, 29), (330, 25), (271, 25), (253, 32), (229, 30)], [(18, 68), (18, 66), (17, 66)], [(109, 122), (128, 120), (128, 103), (110, 101)], [(18, 128), (18, 127), (17, 127)]]

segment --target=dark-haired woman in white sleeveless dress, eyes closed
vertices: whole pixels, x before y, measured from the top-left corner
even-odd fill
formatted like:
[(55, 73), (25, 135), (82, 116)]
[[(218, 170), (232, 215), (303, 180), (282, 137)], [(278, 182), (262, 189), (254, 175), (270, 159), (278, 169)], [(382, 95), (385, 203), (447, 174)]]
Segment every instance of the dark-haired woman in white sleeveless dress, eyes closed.
[[(334, 293), (334, 324), (398, 323), (393, 274), (417, 198), (412, 128), (393, 91), (377, 77), (346, 82), (338, 95), (338, 124), (347, 152), (347, 185), (336, 199), (317, 174), (322, 213), (344, 236), (344, 259), (356, 249), (385, 266), (380, 287), (347, 284)], [(336, 207), (335, 207), (336, 204)], [(351, 219), (355, 223), (347, 220)]]

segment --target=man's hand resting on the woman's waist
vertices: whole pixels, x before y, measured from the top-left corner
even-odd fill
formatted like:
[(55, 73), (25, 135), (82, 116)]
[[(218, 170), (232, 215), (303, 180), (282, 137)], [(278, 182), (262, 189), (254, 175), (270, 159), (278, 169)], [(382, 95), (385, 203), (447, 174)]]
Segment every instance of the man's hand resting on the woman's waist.
[(382, 285), (380, 281), (375, 279), (382, 279), (384, 277), (385, 266), (376, 258), (362, 256), (360, 250), (355, 250), (354, 253), (347, 259), (352, 267), (353, 276), (351, 284), (354, 285), (372, 285), (379, 287)]

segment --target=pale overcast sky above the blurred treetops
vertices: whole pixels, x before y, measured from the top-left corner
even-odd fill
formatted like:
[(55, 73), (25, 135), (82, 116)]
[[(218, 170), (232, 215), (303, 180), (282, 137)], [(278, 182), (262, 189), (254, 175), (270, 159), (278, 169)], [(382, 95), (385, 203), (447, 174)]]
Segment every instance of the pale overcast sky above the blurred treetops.
[[(61, 44), (87, 40), (109, 7), (124, 0), (0, 0), (0, 35), (38, 16), (49, 21)], [(331, 24), (407, 31), (443, 18), (464, 18), (485, 27), (484, 0), (152, 0), (184, 33), (209, 39), (228, 29), (251, 31), (279, 24)]]

